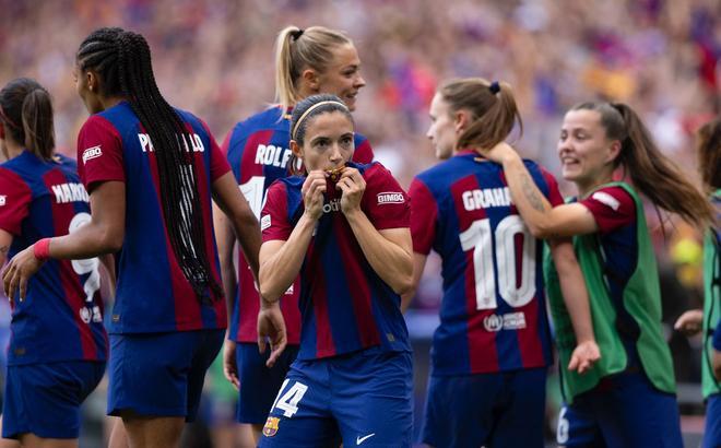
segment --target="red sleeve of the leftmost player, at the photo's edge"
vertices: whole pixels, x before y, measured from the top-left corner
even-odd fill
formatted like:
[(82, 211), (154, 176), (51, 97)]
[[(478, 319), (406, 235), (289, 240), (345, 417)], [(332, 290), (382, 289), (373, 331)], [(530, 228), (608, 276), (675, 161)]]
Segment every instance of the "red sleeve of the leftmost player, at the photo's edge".
[(20, 235), (32, 200), (33, 192), (27, 184), (15, 173), (0, 167), (0, 228)]

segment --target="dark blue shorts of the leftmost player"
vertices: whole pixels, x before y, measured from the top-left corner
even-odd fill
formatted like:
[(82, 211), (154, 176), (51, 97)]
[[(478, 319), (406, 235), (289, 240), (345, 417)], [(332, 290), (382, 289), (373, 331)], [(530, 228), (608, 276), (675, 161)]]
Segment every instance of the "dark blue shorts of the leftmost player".
[(80, 405), (103, 374), (105, 363), (92, 361), (9, 366), (2, 437), (78, 438)]

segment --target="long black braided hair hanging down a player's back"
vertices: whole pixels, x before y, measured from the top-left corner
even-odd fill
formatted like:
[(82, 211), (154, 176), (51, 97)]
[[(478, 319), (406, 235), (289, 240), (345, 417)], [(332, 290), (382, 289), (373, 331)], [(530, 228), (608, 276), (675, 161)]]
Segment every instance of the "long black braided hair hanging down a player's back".
[(122, 28), (99, 28), (80, 45), (76, 60), (81, 71), (101, 76), (102, 94), (126, 98), (135, 113), (157, 162), (163, 219), (180, 270), (201, 303), (222, 298), (205, 250), (192, 135), (157, 89), (147, 42)]

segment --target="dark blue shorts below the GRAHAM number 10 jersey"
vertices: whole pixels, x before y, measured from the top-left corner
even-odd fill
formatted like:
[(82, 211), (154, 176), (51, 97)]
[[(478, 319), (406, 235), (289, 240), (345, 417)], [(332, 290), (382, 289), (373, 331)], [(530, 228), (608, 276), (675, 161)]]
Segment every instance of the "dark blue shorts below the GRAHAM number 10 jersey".
[(546, 369), (430, 376), (422, 441), (436, 448), (543, 447)]

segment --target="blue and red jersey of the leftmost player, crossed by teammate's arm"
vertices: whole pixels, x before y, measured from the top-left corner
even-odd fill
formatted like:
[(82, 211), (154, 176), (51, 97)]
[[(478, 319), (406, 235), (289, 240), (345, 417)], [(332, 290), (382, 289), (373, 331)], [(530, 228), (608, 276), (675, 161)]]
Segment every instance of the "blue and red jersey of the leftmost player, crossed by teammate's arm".
[[(47, 162), (24, 151), (0, 165), (0, 228), (13, 235), (9, 256), (42, 238), (67, 235), (87, 223), (90, 198), (75, 162)], [(107, 335), (97, 258), (50, 259), (13, 300), (10, 365), (105, 361)]]

